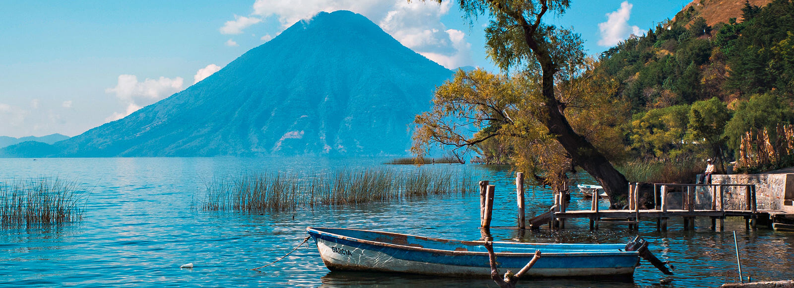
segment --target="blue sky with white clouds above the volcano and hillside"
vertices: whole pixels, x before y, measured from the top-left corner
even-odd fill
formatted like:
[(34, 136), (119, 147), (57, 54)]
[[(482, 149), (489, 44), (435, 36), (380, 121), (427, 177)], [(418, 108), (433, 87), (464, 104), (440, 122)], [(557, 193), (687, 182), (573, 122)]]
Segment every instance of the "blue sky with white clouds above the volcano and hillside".
[[(686, 0), (572, 1), (546, 21), (598, 54), (672, 18)], [(353, 10), (447, 68), (494, 70), (487, 19), (404, 0), (0, 0), (0, 135), (81, 134), (189, 87), (318, 11)]]

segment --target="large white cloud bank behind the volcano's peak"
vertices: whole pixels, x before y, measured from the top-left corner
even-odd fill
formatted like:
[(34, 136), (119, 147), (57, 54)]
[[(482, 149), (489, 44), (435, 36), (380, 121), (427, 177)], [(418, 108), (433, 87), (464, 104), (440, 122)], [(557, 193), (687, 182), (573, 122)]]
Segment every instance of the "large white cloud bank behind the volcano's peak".
[(441, 5), (405, 0), (303, 0), (299, 4), (256, 0), (253, 14), (263, 18), (275, 16), (283, 28), (287, 28), (321, 11), (351, 10), (377, 23), (391, 37), (417, 53), (447, 68), (457, 68), (473, 64), (473, 60), (465, 34), (447, 29), (441, 23), (441, 16), (447, 14), (451, 6), (449, 0)]

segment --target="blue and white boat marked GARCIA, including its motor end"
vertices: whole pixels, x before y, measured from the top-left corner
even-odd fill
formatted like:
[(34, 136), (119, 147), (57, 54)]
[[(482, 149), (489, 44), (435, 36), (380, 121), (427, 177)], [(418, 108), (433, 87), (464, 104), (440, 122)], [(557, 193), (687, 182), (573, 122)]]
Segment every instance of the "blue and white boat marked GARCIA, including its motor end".
[[(306, 232), (317, 243), (322, 262), (332, 271), (491, 276), (488, 251), (482, 241), (434, 239), (347, 228), (310, 227)], [(643, 243), (647, 247), (647, 242)], [(515, 272), (532, 259), (536, 250), (540, 250), (541, 259), (526, 274), (534, 277), (631, 277), (642, 251), (626, 251), (626, 247), (626, 244), (493, 243), (500, 268)]]

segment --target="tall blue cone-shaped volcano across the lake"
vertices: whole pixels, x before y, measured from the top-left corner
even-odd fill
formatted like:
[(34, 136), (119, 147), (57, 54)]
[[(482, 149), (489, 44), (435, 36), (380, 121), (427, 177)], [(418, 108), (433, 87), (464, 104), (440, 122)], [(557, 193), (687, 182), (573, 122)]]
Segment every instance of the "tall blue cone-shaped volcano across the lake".
[(414, 115), (452, 73), (360, 14), (321, 13), (124, 119), (0, 155), (405, 155)]

